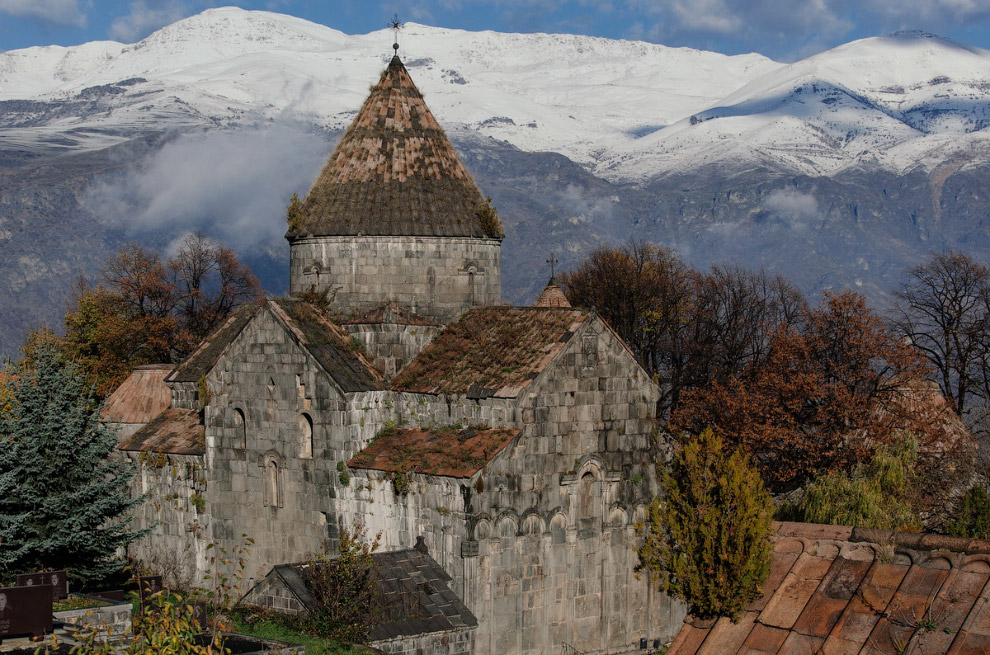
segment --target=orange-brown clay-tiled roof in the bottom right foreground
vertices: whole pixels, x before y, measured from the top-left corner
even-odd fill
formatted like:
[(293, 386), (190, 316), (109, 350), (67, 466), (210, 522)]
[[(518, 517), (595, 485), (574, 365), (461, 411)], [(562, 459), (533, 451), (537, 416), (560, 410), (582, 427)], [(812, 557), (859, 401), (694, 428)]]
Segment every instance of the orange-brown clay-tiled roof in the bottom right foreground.
[(668, 655), (990, 652), (990, 542), (775, 523), (763, 597), (688, 619)]

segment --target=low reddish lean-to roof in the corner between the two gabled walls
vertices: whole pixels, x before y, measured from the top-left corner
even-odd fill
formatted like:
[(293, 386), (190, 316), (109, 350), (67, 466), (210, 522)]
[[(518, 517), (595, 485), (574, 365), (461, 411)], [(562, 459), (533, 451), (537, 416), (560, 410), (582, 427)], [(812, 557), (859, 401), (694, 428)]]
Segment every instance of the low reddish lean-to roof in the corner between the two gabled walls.
[(357, 469), (470, 478), (520, 432), (459, 426), (392, 430), (376, 437), (347, 465)]

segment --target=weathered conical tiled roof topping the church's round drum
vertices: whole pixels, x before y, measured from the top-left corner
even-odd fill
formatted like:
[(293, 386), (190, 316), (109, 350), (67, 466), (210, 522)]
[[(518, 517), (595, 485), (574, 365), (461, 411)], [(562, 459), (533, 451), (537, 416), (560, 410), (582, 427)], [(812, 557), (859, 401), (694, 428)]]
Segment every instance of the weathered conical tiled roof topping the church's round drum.
[(485, 204), (395, 56), (286, 236), (501, 236), (486, 233)]

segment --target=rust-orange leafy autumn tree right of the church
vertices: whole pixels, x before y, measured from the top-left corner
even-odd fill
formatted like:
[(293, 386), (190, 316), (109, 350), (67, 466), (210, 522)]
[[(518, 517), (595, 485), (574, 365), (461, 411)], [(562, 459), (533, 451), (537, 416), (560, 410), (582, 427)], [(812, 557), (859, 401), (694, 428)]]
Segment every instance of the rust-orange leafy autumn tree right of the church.
[(925, 373), (861, 296), (825, 294), (796, 326), (773, 333), (762, 362), (686, 393), (670, 427), (711, 427), (752, 455), (771, 489), (786, 490), (867, 461), (896, 430), (924, 431), (911, 404), (897, 401), (904, 381)]

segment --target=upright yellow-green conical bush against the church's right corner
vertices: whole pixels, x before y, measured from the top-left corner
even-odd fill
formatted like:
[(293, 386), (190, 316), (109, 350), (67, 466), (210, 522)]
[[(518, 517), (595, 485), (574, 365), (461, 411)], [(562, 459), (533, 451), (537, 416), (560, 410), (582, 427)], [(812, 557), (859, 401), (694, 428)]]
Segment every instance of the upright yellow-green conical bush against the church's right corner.
[(693, 614), (738, 620), (770, 574), (773, 502), (763, 480), (742, 450), (726, 456), (711, 430), (660, 473), (663, 497), (650, 507), (640, 567)]

